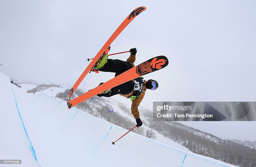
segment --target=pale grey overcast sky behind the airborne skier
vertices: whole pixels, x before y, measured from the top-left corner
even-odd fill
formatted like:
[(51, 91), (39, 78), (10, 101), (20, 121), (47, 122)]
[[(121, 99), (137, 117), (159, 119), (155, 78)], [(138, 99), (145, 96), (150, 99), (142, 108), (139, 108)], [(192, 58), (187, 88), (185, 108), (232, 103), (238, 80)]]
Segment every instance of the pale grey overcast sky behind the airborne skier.
[[(136, 65), (157, 55), (168, 58), (165, 69), (144, 76), (157, 80), (159, 88), (147, 91), (141, 105), (255, 101), (256, 1), (249, 0), (0, 0), (0, 72), (31, 82), (73, 85), (89, 64), (84, 60), (94, 58), (139, 6), (147, 9), (112, 43), (109, 53), (136, 47)], [(112, 77), (91, 73), (82, 84), (93, 88)], [(255, 122), (238, 124), (256, 127)]]

